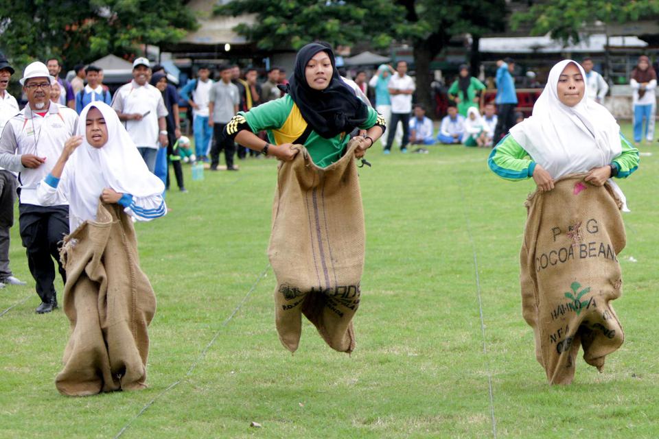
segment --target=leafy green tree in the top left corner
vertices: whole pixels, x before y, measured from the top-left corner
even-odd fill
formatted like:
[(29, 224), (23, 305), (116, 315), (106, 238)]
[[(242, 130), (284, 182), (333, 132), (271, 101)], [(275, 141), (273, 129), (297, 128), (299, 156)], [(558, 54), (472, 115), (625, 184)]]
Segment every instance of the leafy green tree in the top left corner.
[(135, 54), (140, 44), (174, 42), (195, 27), (183, 0), (0, 0), (0, 50), (17, 67), (49, 56), (72, 67)]

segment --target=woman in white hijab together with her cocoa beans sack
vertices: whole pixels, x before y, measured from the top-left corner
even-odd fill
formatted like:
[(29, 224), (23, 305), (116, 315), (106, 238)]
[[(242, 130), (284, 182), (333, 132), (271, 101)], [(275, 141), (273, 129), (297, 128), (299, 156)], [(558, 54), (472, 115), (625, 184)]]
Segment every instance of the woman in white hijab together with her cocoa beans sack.
[(522, 315), (535, 356), (552, 384), (571, 383), (579, 347), (600, 371), (623, 343), (610, 300), (621, 295), (625, 196), (611, 177), (638, 167), (638, 150), (614, 117), (584, 93), (586, 74), (556, 64), (533, 106), (492, 151), (489, 167), (507, 180), (533, 177), (520, 254)]

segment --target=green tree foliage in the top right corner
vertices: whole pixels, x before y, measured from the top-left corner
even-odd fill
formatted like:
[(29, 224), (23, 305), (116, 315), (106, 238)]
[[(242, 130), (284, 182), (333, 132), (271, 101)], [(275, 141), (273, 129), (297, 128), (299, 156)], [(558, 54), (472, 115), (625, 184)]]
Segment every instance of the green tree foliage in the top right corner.
[(625, 23), (656, 14), (657, 0), (549, 0), (513, 14), (511, 26), (517, 29), (522, 24), (531, 25), (532, 34), (549, 32), (555, 40), (577, 43), (584, 25), (596, 21)]

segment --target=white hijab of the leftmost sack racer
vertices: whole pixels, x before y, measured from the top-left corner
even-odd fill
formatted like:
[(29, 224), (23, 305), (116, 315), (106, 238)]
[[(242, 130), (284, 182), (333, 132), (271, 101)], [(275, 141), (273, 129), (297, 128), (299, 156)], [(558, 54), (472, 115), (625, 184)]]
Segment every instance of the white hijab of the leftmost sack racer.
[[(87, 112), (92, 107), (100, 110), (108, 129), (108, 141), (100, 148), (93, 147), (86, 139)], [(134, 197), (163, 193), (165, 185), (146, 167), (111, 106), (95, 101), (84, 107), (78, 134), (82, 136), (82, 145), (71, 154), (65, 174), (69, 209), (80, 222), (96, 219), (99, 198), (106, 187)]]

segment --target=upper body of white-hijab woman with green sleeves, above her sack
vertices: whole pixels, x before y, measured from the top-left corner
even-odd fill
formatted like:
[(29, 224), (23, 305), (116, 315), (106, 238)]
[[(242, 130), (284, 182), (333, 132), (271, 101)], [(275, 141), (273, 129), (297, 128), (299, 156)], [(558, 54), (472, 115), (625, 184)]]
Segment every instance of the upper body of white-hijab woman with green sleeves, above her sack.
[(585, 77), (573, 60), (551, 69), (533, 115), (511, 128), (490, 154), (495, 174), (506, 180), (533, 177), (540, 191), (551, 191), (554, 181), (567, 174), (588, 172), (585, 180), (601, 186), (636, 170), (638, 150), (611, 113), (588, 99)]

